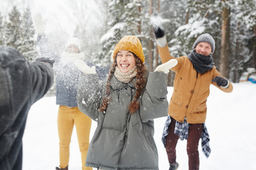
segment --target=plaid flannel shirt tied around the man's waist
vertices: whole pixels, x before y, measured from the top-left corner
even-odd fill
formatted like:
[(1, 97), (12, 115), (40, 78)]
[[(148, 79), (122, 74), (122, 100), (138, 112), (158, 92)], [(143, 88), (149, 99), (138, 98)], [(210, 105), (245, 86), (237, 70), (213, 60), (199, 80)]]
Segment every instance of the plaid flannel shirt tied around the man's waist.
[[(171, 116), (168, 115), (168, 118), (164, 125), (164, 132), (163, 132), (163, 135), (161, 138), (161, 141), (163, 142), (164, 147), (166, 145), (166, 136), (168, 135), (168, 128), (169, 128), (170, 124), (171, 124)], [(189, 123), (186, 122), (186, 118), (183, 123), (179, 123), (178, 121), (176, 121), (174, 134), (178, 135), (181, 140), (184, 140), (184, 139), (187, 140), (188, 139), (188, 128), (189, 128)], [(206, 128), (206, 124), (203, 123), (203, 132), (201, 135), (201, 146), (203, 149), (203, 153), (206, 155), (207, 158), (210, 156), (209, 142), (210, 142), (210, 137), (208, 134), (208, 130)]]

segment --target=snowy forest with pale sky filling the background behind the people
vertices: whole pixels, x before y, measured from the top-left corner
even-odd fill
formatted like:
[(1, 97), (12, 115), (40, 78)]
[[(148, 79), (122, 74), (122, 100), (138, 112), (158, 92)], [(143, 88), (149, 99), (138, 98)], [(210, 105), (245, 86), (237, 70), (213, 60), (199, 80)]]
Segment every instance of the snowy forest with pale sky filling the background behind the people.
[[(210, 33), (216, 42), (213, 59), (225, 77), (238, 82), (247, 68), (256, 69), (256, 0), (1, 0), (0, 45), (16, 48), (29, 61), (38, 57), (33, 15), (41, 13), (55, 52), (69, 36), (82, 51), (105, 67), (114, 45), (124, 35), (137, 35), (151, 70), (161, 64), (151, 18), (164, 27), (174, 57), (187, 55), (198, 35)], [(41, 4), (40, 4), (41, 3)], [(169, 86), (174, 79), (169, 73)]]

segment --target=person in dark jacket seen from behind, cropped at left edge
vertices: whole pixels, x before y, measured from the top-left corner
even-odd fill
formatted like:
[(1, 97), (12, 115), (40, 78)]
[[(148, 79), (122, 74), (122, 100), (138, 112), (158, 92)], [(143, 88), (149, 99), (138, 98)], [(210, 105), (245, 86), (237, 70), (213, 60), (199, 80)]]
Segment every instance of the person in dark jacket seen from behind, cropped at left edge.
[(0, 46), (0, 169), (22, 169), (22, 137), (28, 111), (53, 84), (53, 60), (29, 63)]

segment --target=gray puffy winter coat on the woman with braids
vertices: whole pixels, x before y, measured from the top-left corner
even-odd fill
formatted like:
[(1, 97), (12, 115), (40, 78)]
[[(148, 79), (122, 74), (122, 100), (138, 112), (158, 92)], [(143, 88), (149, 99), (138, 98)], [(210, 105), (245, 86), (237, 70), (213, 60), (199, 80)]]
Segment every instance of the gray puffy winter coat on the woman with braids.
[[(131, 114), (129, 103), (136, 89), (133, 79), (128, 84), (111, 80), (110, 103), (105, 113), (98, 111), (105, 91), (96, 75), (82, 77), (78, 88), (78, 108), (98, 125), (87, 152), (86, 166), (100, 169), (159, 169), (154, 142), (154, 118), (167, 115), (166, 75), (150, 72), (140, 100), (140, 108)], [(97, 82), (97, 83), (95, 83)], [(90, 88), (85, 88), (87, 84)], [(102, 83), (105, 86), (106, 82)]]

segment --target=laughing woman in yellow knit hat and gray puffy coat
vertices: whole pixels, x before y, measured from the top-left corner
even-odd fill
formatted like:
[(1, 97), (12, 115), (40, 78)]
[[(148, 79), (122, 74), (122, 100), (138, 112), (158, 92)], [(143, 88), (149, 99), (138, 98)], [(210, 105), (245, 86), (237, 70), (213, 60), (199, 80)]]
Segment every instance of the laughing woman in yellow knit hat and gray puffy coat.
[[(154, 118), (167, 115), (166, 73), (176, 65), (170, 60), (149, 72), (142, 44), (125, 36), (114, 48), (114, 62), (106, 81), (90, 74), (85, 63), (78, 87), (78, 108), (97, 129), (87, 152), (86, 166), (97, 169), (159, 169), (154, 142)], [(85, 84), (90, 89), (85, 88)]]

